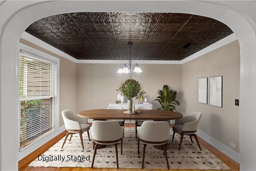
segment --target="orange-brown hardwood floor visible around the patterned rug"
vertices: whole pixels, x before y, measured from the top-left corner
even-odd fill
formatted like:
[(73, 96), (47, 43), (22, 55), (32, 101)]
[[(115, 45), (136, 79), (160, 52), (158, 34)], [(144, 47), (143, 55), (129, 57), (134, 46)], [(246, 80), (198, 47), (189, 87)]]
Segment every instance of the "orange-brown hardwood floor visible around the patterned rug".
[[(135, 127), (135, 123), (125, 123), (125, 127)], [(170, 125), (172, 127), (172, 125)], [(38, 157), (38, 155), (41, 155), (45, 151), (47, 151), (50, 147), (52, 147), (55, 143), (57, 143), (62, 137), (66, 135), (66, 131), (60, 133), (58, 136), (54, 137), (51, 141), (45, 143), (38, 149), (36, 149), (34, 152), (32, 152), (30, 155), (24, 157), (22, 160), (19, 161), (19, 171), (164, 171), (168, 169), (114, 169), (114, 168), (104, 168), (104, 169), (90, 169), (90, 168), (58, 168), (58, 167), (28, 167), (28, 165), (34, 161)], [(203, 145), (208, 151), (216, 155), (221, 161), (223, 161), (228, 167), (230, 167), (230, 171), (238, 171), (239, 170), (239, 164), (236, 163), (234, 160), (232, 160), (230, 157), (204, 141), (202, 138), (198, 137), (198, 140), (201, 145)], [(170, 169), (172, 171), (180, 171), (180, 169)], [(193, 170), (193, 169), (182, 169), (182, 170)]]

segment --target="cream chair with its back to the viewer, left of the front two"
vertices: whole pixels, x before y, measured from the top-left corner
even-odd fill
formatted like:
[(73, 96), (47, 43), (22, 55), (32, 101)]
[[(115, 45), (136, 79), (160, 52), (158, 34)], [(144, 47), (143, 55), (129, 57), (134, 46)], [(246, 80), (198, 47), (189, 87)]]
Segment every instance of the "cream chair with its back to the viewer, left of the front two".
[(123, 132), (124, 127), (120, 126), (118, 121), (93, 121), (92, 123), (92, 140), (94, 146), (94, 154), (92, 158), (92, 168), (98, 145), (112, 145), (116, 147), (116, 164), (118, 167), (118, 151), (117, 143), (121, 141), (121, 154), (123, 148)]

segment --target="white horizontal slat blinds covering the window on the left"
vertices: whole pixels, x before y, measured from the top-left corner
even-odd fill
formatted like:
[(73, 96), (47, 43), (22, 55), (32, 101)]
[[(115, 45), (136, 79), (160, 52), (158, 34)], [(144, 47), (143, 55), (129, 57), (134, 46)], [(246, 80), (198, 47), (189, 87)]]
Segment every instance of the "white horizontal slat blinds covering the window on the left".
[(20, 148), (55, 129), (56, 63), (20, 50)]

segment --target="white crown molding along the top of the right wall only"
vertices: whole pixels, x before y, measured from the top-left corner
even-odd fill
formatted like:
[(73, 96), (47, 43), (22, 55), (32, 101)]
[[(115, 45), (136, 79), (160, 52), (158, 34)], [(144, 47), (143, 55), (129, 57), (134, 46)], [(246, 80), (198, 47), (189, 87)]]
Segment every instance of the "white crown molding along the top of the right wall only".
[(208, 46), (208, 47), (206, 47), (206, 48), (188, 56), (187, 58), (181, 60), (181, 64), (185, 64), (186, 62), (194, 60), (194, 59), (196, 59), (196, 58), (198, 58), (198, 57), (200, 57), (204, 54), (207, 54), (208, 52), (216, 50), (216, 49), (218, 49), (218, 48), (220, 48), (220, 47), (222, 47), (226, 44), (229, 44), (229, 43), (231, 43), (235, 40), (237, 40), (236, 35), (234, 33), (230, 34), (229, 36), (223, 38), (222, 40), (219, 40), (218, 42), (215, 42), (214, 44), (212, 44), (212, 45), (210, 45), (210, 46)]

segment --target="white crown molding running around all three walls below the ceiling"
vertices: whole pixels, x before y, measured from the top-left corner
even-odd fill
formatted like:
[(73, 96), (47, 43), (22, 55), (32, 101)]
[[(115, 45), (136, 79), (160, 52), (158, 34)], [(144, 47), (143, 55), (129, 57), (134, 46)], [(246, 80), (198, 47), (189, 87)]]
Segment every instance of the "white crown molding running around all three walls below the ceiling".
[[(27, 32), (23, 32), (21, 38), (78, 64), (124, 64), (127, 62), (127, 60), (77, 60), (76, 58), (62, 52), (61, 50), (58, 50), (57, 48), (54, 48), (53, 46), (32, 36), (31, 34), (28, 34)], [(230, 34), (229, 36), (223, 38), (222, 40), (215, 42), (214, 44), (194, 53), (193, 55), (188, 56), (187, 58), (181, 61), (171, 61), (171, 60), (134, 60), (134, 61), (136, 61), (139, 64), (185, 64), (186, 62), (194, 60), (204, 54), (207, 54), (208, 52), (216, 50), (217, 48), (220, 48), (235, 40), (237, 40), (236, 35), (234, 33)]]

